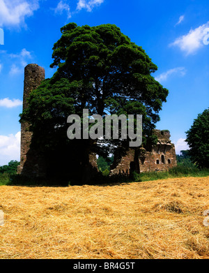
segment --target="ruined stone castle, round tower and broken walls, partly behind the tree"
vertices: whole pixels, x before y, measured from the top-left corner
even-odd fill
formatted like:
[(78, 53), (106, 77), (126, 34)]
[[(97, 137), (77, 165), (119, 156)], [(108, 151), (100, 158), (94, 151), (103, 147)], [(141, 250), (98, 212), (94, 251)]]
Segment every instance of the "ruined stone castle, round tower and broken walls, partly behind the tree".
[[(37, 64), (29, 64), (24, 68), (24, 95), (23, 110), (27, 108), (27, 98), (33, 89), (36, 89), (42, 80), (45, 80), (44, 68)], [(155, 130), (158, 142), (151, 151), (140, 148), (138, 152), (128, 148), (123, 156), (118, 149), (114, 154), (114, 163), (111, 165), (110, 175), (130, 175), (131, 172), (163, 171), (177, 165), (175, 147), (171, 143), (169, 131)], [(17, 173), (27, 177), (45, 177), (45, 160), (37, 149), (31, 147), (33, 133), (29, 131), (29, 124), (21, 124), (20, 165)], [(98, 170), (96, 155), (88, 155), (92, 168)], [(68, 164), (69, 165), (69, 164)], [(73, 167), (72, 167), (73, 169)]]

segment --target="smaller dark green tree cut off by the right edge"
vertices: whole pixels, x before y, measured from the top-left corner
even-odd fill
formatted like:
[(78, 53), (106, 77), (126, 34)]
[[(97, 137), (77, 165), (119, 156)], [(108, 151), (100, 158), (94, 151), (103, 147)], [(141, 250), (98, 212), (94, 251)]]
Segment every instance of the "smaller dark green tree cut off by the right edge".
[(209, 168), (209, 108), (194, 119), (186, 134), (192, 162), (199, 168)]

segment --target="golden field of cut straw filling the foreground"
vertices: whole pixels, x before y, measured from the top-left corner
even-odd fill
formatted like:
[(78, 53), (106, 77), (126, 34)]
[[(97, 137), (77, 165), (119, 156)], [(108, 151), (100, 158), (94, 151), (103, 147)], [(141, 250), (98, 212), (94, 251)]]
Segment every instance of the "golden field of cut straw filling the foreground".
[(0, 186), (0, 258), (209, 258), (209, 177)]

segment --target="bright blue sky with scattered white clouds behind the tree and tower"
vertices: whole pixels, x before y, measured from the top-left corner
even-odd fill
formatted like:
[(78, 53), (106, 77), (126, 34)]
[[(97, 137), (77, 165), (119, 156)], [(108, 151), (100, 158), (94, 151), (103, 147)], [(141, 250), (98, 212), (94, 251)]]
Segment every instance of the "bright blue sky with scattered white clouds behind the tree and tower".
[(185, 131), (209, 105), (208, 0), (0, 0), (0, 165), (20, 161), (24, 67), (51, 78), (52, 47), (69, 22), (116, 24), (143, 47), (169, 89), (156, 128), (171, 132), (177, 154), (188, 149)]

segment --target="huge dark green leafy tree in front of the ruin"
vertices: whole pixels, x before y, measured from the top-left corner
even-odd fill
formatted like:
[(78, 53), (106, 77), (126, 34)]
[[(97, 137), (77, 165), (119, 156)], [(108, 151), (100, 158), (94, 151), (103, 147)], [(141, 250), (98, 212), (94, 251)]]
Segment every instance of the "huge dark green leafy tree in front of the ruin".
[(82, 116), (84, 108), (89, 115), (102, 117), (143, 115), (144, 145), (153, 144), (152, 131), (168, 90), (153, 78), (157, 66), (142, 47), (113, 24), (79, 27), (70, 23), (61, 28), (61, 34), (52, 54), (51, 68), (57, 71), (31, 93), (29, 108), (21, 115), (21, 121), (31, 124), (33, 145), (51, 153), (50, 158), (58, 151), (63, 158), (65, 152), (65, 161), (73, 156), (75, 165), (79, 161), (85, 165), (89, 151), (101, 156), (110, 149), (114, 152), (121, 140), (109, 140), (102, 147), (97, 140), (68, 140), (67, 117)]

